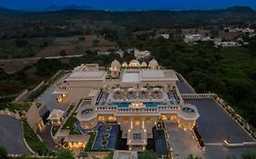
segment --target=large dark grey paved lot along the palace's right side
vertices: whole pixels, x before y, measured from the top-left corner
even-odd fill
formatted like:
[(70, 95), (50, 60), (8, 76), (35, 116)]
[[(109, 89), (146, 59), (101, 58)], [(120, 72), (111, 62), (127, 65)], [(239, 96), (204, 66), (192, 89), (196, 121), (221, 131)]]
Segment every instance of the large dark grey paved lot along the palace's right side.
[(214, 99), (185, 100), (185, 103), (197, 106), (200, 113), (197, 124), (206, 144), (222, 143), (224, 140), (230, 143), (254, 141)]

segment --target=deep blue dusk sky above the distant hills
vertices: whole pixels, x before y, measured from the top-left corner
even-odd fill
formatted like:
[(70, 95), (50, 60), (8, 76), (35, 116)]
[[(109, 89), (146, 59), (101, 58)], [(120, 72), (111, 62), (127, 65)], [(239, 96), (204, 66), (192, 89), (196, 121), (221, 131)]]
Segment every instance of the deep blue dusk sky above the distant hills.
[(88, 5), (97, 9), (212, 9), (234, 5), (256, 8), (256, 0), (0, 0), (14, 9), (43, 9), (49, 5)]

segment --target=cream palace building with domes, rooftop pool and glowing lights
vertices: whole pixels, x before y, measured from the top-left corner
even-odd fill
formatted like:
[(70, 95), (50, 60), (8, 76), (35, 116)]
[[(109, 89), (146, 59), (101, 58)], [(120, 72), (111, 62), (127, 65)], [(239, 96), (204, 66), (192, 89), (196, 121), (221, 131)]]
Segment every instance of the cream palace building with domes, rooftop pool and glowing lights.
[(84, 129), (106, 121), (120, 124), (122, 138), (132, 151), (145, 150), (159, 120), (192, 129), (200, 115), (194, 105), (184, 104), (176, 73), (159, 69), (154, 59), (148, 65), (138, 61), (129, 65), (117, 60), (108, 70), (80, 65), (58, 84), (55, 94), (67, 95), (70, 104), (82, 101), (76, 112)]

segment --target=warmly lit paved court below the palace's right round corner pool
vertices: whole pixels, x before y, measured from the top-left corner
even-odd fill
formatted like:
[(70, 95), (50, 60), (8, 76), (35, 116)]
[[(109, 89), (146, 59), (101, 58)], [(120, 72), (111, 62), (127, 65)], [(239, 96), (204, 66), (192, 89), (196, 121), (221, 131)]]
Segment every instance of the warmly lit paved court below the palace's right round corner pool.
[(174, 123), (168, 123), (166, 127), (169, 132), (169, 143), (176, 159), (187, 158), (189, 154), (204, 158), (204, 154), (198, 147), (191, 131), (184, 131), (178, 127), (178, 124)]

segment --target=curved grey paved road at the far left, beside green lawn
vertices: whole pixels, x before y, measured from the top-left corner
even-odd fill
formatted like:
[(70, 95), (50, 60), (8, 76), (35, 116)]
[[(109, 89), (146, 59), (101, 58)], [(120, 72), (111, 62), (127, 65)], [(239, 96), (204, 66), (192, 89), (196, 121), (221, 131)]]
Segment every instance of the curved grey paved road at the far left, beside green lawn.
[(22, 136), (22, 125), (13, 116), (0, 114), (0, 145), (10, 154), (31, 154)]

